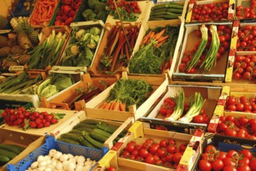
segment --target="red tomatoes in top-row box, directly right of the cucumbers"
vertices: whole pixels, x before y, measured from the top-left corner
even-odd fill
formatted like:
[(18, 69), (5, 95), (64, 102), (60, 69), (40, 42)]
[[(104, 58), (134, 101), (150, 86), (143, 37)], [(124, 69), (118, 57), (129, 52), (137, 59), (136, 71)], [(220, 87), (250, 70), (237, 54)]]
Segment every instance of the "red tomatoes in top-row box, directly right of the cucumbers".
[(227, 19), (229, 3), (194, 4), (191, 21), (218, 21)]

